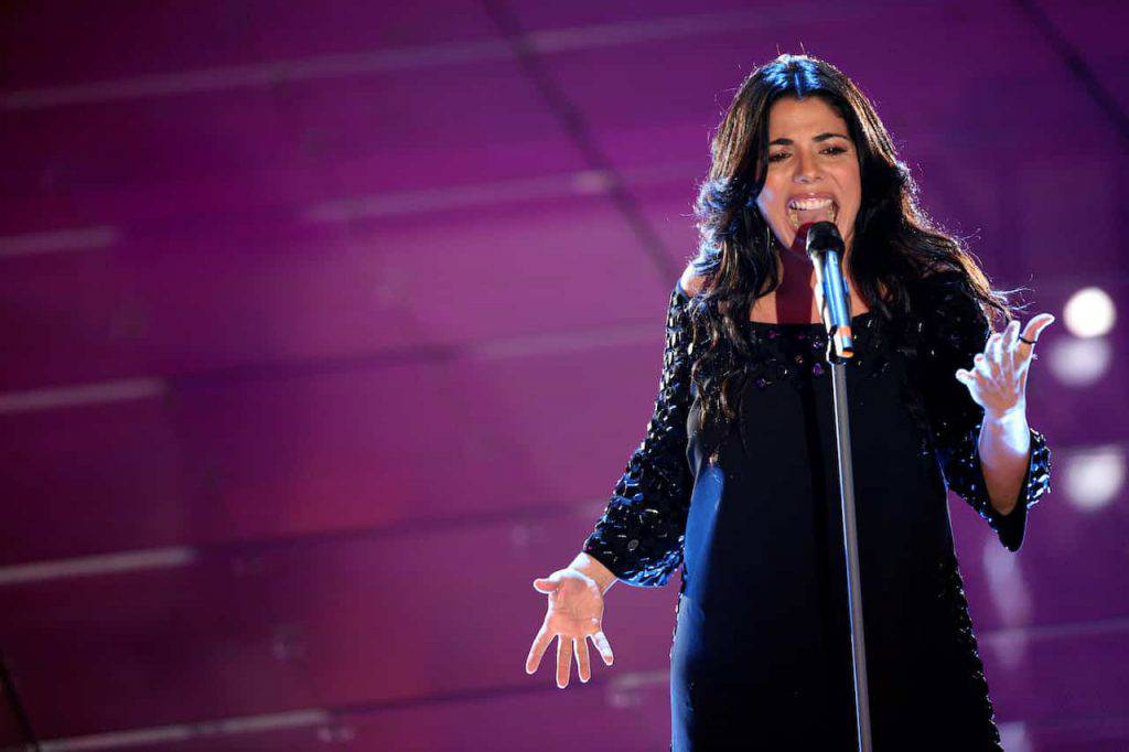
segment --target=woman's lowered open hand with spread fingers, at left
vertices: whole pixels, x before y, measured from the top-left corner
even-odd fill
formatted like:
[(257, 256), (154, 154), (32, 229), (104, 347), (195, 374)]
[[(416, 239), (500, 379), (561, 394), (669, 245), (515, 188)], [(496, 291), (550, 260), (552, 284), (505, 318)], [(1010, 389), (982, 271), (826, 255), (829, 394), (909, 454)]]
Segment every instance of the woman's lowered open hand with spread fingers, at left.
[(557, 640), (557, 687), (568, 687), (572, 671), (572, 655), (576, 655), (581, 682), (592, 679), (588, 661), (588, 638), (599, 650), (599, 656), (609, 666), (614, 656), (607, 644), (601, 622), (604, 618), (604, 596), (595, 579), (576, 569), (558, 569), (549, 577), (533, 580), (533, 589), (549, 596), (549, 607), (541, 631), (533, 638), (530, 656), (525, 659), (525, 673), (536, 673), (541, 656)]

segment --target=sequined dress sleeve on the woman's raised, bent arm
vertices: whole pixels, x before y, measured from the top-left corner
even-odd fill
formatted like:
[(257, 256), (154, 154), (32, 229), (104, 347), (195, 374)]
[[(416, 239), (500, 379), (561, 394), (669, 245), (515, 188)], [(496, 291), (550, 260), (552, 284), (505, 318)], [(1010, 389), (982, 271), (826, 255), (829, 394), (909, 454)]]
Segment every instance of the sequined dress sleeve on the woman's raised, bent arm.
[(1003, 515), (991, 505), (980, 465), (979, 438), (983, 408), (956, 381), (957, 368), (972, 368), (991, 324), (979, 303), (962, 287), (960, 272), (939, 272), (921, 282), (919, 301), (922, 397), (934, 446), (949, 490), (984, 518), (1009, 551), (1017, 551), (1026, 530), (1027, 509), (1050, 491), (1051, 453), (1045, 437), (1031, 430), (1027, 469), (1015, 508)]

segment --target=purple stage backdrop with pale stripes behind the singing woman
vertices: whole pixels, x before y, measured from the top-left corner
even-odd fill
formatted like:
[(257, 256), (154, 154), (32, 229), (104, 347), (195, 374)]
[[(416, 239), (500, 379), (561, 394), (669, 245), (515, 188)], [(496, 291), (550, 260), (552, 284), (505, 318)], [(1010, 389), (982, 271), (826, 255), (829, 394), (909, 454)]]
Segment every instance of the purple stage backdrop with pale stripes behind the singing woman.
[(616, 586), (561, 692), (531, 583), (642, 437), (712, 129), (802, 50), (1059, 315), (1022, 552), (952, 516), (1008, 749), (1129, 749), (1126, 492), (1066, 483), (1123, 457), (1126, 339), (1086, 388), (1048, 357), (1129, 298), (1123, 3), (0, 12), (0, 650), (46, 749), (666, 749), (676, 585)]

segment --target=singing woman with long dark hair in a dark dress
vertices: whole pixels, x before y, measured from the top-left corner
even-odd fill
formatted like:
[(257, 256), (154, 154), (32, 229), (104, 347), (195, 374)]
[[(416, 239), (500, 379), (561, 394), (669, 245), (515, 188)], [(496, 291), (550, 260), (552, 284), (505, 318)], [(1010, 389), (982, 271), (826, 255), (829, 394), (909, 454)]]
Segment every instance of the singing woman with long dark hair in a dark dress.
[[(557, 683), (603, 595), (681, 566), (675, 750), (854, 749), (855, 701), (831, 373), (807, 227), (844, 241), (847, 366), (876, 750), (1000, 749), (953, 553), (946, 486), (1012, 551), (1050, 488), (1025, 416), (1034, 342), (961, 242), (933, 227), (882, 121), (832, 65), (781, 55), (715, 137), (698, 256), (671, 295), (646, 439), (549, 596), (526, 659), (558, 638)], [(991, 333), (991, 318), (1008, 321)]]

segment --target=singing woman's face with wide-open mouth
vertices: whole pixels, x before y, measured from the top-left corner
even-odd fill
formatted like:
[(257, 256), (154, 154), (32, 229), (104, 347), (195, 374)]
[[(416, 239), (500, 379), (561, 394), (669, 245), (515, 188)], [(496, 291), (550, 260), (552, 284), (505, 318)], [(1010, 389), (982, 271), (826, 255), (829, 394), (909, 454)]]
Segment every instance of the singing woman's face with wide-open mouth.
[(830, 220), (850, 251), (863, 183), (847, 121), (816, 96), (777, 99), (767, 159), (756, 206), (784, 247), (793, 246), (800, 226)]

